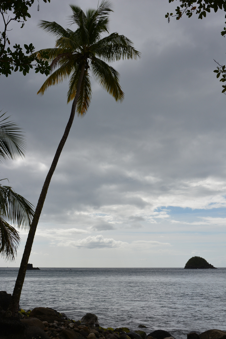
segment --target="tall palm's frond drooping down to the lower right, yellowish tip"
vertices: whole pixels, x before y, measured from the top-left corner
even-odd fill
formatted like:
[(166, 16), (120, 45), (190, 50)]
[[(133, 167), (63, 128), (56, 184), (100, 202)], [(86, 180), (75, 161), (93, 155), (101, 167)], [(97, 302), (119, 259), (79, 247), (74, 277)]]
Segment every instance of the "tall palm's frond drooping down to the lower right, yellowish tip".
[(119, 84), (120, 75), (116, 69), (96, 57), (92, 58), (91, 69), (94, 79), (105, 91), (112, 95), (116, 101), (123, 101), (124, 93)]

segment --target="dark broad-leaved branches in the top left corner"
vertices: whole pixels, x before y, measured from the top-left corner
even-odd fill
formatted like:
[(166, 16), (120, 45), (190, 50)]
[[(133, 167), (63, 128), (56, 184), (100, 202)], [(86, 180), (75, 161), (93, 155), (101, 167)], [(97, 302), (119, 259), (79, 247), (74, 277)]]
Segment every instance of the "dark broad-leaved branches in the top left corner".
[[(47, 0), (43, 1), (47, 2)], [(24, 45), (25, 54), (20, 44), (15, 44), (13, 50), (9, 47), (10, 41), (7, 31), (10, 29), (8, 25), (11, 21), (17, 21), (22, 23), (21, 28), (23, 28), (27, 18), (30, 18), (28, 10), (33, 3), (34, 0), (3, 0), (0, 2), (0, 14), (3, 20), (3, 29), (0, 31), (0, 74), (6, 77), (12, 74), (12, 71), (17, 72), (18, 69), (20, 72), (23, 72), (23, 75), (26, 75), (33, 66), (35, 66), (36, 73), (40, 72), (46, 76), (49, 74), (50, 67), (48, 62), (40, 61), (34, 55), (35, 47), (32, 43)]]

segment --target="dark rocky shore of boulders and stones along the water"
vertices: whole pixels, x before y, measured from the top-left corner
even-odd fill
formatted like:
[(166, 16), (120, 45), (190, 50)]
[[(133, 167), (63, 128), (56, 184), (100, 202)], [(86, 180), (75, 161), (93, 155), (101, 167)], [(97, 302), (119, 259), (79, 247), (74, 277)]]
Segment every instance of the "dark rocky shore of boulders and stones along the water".
[[(0, 339), (177, 339), (169, 332), (145, 332), (145, 325), (131, 330), (127, 327), (103, 328), (95, 314), (87, 313), (81, 320), (69, 319), (64, 313), (48, 307), (19, 310), (19, 318), (6, 317), (0, 312)], [(226, 339), (226, 332), (208, 330), (201, 334), (191, 332), (187, 339)]]

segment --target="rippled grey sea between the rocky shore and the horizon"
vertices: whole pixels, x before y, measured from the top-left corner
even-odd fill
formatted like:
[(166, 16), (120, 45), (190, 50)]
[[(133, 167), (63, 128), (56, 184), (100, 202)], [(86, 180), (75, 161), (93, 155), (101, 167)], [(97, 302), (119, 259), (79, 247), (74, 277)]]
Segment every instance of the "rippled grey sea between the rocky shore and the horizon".
[[(12, 293), (18, 268), (0, 268), (0, 290)], [(52, 307), (78, 320), (94, 313), (102, 327), (147, 326), (176, 339), (226, 331), (226, 268), (41, 268), (27, 271), (20, 307)]]

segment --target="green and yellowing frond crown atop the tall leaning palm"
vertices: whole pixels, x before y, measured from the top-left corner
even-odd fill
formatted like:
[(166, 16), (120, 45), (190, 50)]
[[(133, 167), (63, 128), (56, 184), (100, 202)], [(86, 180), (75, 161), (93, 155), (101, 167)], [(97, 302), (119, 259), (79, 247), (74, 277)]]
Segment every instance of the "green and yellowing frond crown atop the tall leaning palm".
[(124, 99), (124, 93), (119, 85), (119, 73), (106, 63), (120, 59), (137, 59), (140, 53), (132, 46), (132, 42), (124, 35), (108, 33), (109, 12), (112, 5), (109, 1), (102, 1), (97, 9), (87, 9), (86, 13), (75, 5), (70, 5), (73, 14), (70, 16), (71, 24), (77, 24), (76, 31), (64, 29), (56, 22), (41, 21), (39, 26), (46, 32), (54, 35), (55, 48), (42, 49), (37, 55), (42, 58), (42, 52), (47, 52), (51, 62), (52, 74), (39, 89), (38, 94), (67, 78), (69, 90), (67, 102), (75, 98), (82, 65), (85, 67), (79, 98), (76, 105), (78, 115), (83, 116), (91, 100), (91, 83), (89, 71), (93, 78), (116, 101)]

